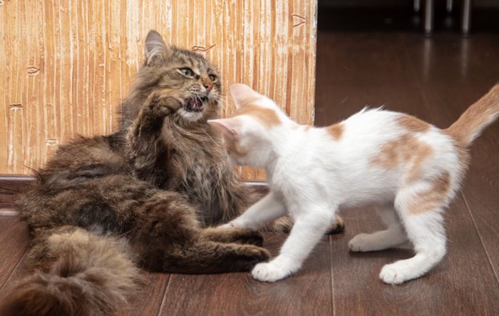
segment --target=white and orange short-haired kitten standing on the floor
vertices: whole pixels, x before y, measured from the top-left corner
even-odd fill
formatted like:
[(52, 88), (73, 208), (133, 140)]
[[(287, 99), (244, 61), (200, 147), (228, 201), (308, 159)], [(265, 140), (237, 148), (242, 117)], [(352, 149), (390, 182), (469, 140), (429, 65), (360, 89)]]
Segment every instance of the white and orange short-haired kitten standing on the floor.
[(234, 163), (266, 169), (270, 193), (223, 226), (257, 229), (287, 213), (294, 220), (279, 256), (252, 270), (255, 279), (273, 282), (299, 270), (337, 210), (366, 204), (376, 205), (388, 228), (356, 235), (351, 251), (411, 241), (416, 252), (385, 265), (381, 280), (400, 284), (442, 260), (442, 213), (463, 180), (469, 146), (498, 116), (499, 85), (443, 130), (379, 108), (313, 128), (248, 86), (235, 84), (230, 92), (236, 115), (209, 123), (222, 132)]

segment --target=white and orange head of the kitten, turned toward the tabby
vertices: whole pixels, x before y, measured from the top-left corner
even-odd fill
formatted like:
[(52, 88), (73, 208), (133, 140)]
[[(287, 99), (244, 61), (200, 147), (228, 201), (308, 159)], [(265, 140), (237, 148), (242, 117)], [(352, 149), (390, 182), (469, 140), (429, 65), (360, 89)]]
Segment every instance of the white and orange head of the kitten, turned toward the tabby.
[(232, 163), (265, 168), (274, 154), (272, 128), (282, 124), (284, 113), (274, 101), (244, 84), (232, 85), (230, 93), (236, 106), (235, 116), (208, 123), (222, 133)]

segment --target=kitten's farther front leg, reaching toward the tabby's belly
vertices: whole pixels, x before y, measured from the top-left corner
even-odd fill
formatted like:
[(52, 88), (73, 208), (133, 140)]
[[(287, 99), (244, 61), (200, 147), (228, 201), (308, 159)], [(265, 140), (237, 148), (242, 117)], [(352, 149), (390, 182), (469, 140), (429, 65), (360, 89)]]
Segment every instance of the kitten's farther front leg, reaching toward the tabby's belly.
[(286, 215), (286, 206), (276, 193), (270, 192), (262, 200), (254, 203), (245, 213), (220, 228), (248, 228), (257, 230), (276, 218)]

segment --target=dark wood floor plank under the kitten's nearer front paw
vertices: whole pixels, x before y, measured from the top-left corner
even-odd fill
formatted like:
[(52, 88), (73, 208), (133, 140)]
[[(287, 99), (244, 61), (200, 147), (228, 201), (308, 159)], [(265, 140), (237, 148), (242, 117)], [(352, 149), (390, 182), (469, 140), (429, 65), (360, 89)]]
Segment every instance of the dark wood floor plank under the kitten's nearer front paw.
[[(272, 255), (286, 235), (266, 234)], [(161, 315), (331, 315), (331, 262), (324, 238), (297, 275), (275, 282), (249, 273), (172, 275)]]

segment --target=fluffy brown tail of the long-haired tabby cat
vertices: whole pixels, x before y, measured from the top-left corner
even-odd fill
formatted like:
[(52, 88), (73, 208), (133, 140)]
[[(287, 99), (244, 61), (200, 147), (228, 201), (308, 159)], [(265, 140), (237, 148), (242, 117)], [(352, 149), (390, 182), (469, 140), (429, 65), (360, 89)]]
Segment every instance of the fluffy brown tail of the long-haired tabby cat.
[(51, 234), (46, 247), (51, 265), (14, 285), (0, 315), (111, 315), (138, 280), (127, 246), (115, 238), (72, 228)]

